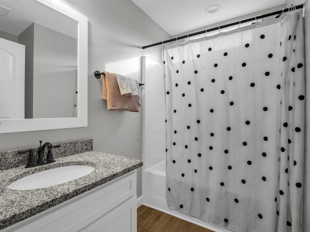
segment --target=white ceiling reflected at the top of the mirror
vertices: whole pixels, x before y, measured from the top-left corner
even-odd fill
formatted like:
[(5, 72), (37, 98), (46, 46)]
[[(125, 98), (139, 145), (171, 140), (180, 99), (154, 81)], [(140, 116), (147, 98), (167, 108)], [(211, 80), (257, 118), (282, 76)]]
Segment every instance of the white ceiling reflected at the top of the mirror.
[(9, 8), (0, 15), (0, 30), (19, 35), (33, 22), (66, 34), (78, 37), (78, 22), (35, 0), (0, 0), (0, 9)]

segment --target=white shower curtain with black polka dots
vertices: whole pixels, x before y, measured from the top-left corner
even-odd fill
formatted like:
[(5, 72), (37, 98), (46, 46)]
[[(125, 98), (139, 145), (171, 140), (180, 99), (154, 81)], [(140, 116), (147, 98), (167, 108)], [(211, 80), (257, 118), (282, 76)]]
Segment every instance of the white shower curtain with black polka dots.
[(169, 208), (235, 232), (300, 232), (301, 11), (163, 48)]

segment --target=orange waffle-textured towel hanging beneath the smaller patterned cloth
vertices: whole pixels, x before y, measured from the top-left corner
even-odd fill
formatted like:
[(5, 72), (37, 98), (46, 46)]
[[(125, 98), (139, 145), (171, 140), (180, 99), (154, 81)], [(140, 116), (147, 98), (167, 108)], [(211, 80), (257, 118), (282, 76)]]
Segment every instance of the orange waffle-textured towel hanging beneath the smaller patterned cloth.
[(102, 99), (107, 100), (108, 110), (126, 110), (140, 112), (140, 92), (139, 83), (136, 81), (138, 96), (121, 95), (115, 73), (104, 72), (102, 77)]

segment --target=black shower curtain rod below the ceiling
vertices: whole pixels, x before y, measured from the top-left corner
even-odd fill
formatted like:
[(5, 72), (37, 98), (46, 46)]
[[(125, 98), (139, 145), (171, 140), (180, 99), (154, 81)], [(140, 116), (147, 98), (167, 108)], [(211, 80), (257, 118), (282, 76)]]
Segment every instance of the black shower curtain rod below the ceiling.
[(282, 14), (282, 13), (285, 13), (285, 12), (288, 12), (288, 11), (291, 11), (291, 10), (295, 10), (295, 9), (297, 10), (297, 9), (301, 9), (301, 8), (303, 8), (303, 4), (298, 5), (298, 6), (291, 6), (289, 8), (284, 9), (284, 10), (281, 10), (281, 11), (275, 11), (275, 12), (272, 12), (272, 13), (263, 14), (263, 15), (259, 15), (259, 16), (256, 16), (256, 17), (244, 19), (244, 20), (241, 20), (241, 21), (229, 23), (229, 24), (226, 24), (226, 25), (221, 25), (221, 26), (219, 26), (217, 28), (211, 28), (211, 29), (207, 29), (207, 30), (202, 30), (202, 31), (191, 33), (191, 34), (188, 34), (188, 35), (184, 35), (184, 36), (180, 36), (180, 37), (175, 37), (175, 38), (170, 39), (170, 40), (165, 40), (165, 41), (162, 41), (162, 42), (158, 42), (158, 43), (153, 43), (153, 44), (150, 44), (150, 45), (142, 46), (142, 49), (145, 49), (145, 48), (148, 48), (148, 47), (154, 47), (154, 46), (157, 46), (157, 45), (160, 45), (160, 44), (164, 44), (164, 43), (170, 43), (170, 42), (173, 42), (173, 41), (185, 39), (187, 37), (191, 37), (191, 36), (195, 36), (195, 35), (200, 35), (200, 34), (203, 34), (203, 33), (206, 33), (206, 32), (210, 32), (210, 31), (214, 31), (214, 30), (218, 30), (218, 29), (228, 28), (228, 27), (231, 27), (231, 26), (234, 26), (234, 25), (238, 25), (238, 24), (241, 24), (241, 23), (250, 22), (250, 21), (253, 21), (253, 20), (256, 20), (256, 19), (265, 18), (265, 17), (269, 17), (269, 16), (272, 16), (272, 15), (276, 15), (276, 14)]

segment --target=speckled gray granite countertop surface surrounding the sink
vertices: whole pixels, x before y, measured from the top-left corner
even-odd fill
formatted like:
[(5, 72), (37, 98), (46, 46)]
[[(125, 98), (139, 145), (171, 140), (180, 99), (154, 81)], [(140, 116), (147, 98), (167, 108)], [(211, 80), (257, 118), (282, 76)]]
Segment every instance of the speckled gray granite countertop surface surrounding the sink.
[[(76, 180), (47, 188), (14, 190), (7, 186), (26, 175), (68, 165), (90, 165), (95, 170)], [(142, 166), (141, 160), (88, 151), (58, 158), (34, 168), (17, 167), (0, 171), (0, 230), (65, 202)]]

